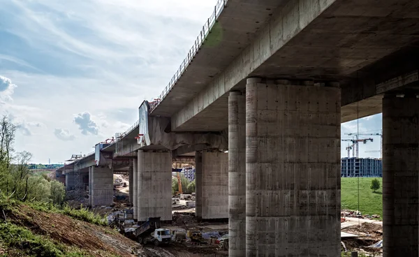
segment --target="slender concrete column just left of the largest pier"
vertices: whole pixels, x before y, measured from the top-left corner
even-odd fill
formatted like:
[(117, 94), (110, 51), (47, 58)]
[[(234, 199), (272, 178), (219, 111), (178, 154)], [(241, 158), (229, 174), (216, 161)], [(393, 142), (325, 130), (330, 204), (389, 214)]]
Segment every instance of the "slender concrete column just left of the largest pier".
[(246, 256), (246, 98), (228, 96), (228, 256)]

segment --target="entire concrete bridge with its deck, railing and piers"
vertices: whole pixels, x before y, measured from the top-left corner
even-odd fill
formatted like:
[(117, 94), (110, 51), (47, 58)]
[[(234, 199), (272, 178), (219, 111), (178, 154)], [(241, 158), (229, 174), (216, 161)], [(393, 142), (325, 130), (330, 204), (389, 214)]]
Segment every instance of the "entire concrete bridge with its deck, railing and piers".
[(230, 256), (340, 256), (340, 124), (383, 112), (384, 256), (418, 256), (418, 22), (413, 0), (219, 1), (138, 130), (78, 161), (91, 203), (135, 159), (135, 219), (170, 220), (172, 161), (195, 156)]

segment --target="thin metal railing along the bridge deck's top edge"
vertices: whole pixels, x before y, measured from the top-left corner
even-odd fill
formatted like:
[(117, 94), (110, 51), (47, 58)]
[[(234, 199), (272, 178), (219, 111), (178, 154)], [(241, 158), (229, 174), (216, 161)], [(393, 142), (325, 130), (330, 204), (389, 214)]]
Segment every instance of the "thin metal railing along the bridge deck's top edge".
[(156, 104), (152, 106), (151, 111), (153, 111), (157, 106), (159, 106), (159, 103), (163, 100), (163, 98), (166, 97), (170, 89), (172, 89), (172, 87), (177, 83), (184, 71), (186, 71), (186, 68), (189, 66), (189, 64), (191, 64), (193, 57), (195, 57), (196, 53), (205, 42), (205, 39), (207, 39), (208, 34), (210, 34), (210, 31), (212, 27), (214, 27), (216, 19), (218, 19), (219, 15), (221, 14), (221, 11), (226, 6), (227, 1), (228, 0), (219, 0), (216, 3), (216, 6), (214, 6), (214, 12), (212, 13), (211, 17), (208, 18), (207, 22), (205, 22), (203, 29), (200, 31), (200, 34), (196, 38), (196, 41), (193, 43), (191, 50), (189, 50), (188, 56), (184, 59), (184, 61), (182, 61), (182, 64), (180, 64), (179, 69), (176, 71), (175, 75), (173, 75), (169, 84), (163, 89), (159, 98), (156, 99)]

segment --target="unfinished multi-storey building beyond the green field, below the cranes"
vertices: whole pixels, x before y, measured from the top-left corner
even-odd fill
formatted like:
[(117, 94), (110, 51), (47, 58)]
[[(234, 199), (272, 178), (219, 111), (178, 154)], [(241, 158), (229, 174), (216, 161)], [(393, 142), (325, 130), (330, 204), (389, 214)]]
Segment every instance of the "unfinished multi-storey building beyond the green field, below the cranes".
[(341, 177), (383, 177), (383, 162), (372, 158), (342, 158)]

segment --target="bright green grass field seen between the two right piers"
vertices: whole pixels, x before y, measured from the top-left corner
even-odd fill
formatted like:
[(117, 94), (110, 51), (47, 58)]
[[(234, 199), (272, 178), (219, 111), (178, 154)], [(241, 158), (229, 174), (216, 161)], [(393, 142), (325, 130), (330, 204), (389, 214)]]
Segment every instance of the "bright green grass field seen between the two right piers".
[(360, 177), (359, 179), (359, 209), (358, 209), (358, 177), (341, 178), (341, 208), (348, 210), (360, 210), (362, 214), (378, 214), (383, 216), (383, 179), (380, 181), (380, 189), (375, 193), (371, 186), (374, 177)]

